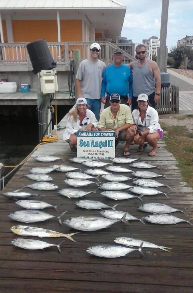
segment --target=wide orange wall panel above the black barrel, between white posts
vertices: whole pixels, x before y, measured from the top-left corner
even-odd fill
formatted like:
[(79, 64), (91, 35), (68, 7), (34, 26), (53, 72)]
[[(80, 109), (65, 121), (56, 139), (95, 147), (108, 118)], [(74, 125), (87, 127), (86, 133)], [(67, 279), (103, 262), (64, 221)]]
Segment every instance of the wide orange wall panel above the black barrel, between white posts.
[(56, 20), (13, 20), (12, 24), (14, 42), (58, 41)]

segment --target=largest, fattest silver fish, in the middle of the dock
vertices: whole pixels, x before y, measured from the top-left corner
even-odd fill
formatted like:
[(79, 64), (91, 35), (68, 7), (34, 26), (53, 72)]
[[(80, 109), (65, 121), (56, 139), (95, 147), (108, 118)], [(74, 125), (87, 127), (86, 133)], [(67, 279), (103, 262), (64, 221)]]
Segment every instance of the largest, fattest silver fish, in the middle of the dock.
[[(64, 212), (65, 213), (65, 212)], [(63, 214), (64, 214), (63, 213)], [(59, 216), (60, 224), (64, 223), (67, 226), (80, 231), (98, 231), (109, 227), (112, 224), (120, 222), (120, 220), (112, 220), (104, 217), (70, 217), (62, 222), (62, 215)], [(125, 217), (125, 216), (124, 216)], [(124, 219), (122, 219), (124, 221)]]

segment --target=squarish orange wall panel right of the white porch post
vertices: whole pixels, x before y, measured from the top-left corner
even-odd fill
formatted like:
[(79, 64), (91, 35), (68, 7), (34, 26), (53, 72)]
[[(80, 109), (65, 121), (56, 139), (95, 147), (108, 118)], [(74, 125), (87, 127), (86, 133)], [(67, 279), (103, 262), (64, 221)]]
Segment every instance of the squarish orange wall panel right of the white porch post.
[(82, 42), (82, 20), (60, 20), (61, 42)]

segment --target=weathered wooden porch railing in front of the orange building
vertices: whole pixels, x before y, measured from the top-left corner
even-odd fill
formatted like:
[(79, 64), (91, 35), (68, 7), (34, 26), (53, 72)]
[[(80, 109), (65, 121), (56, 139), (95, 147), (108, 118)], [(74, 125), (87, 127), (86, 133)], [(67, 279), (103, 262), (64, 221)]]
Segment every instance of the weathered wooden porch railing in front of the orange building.
[[(31, 71), (32, 66), (26, 49), (27, 44), (0, 43), (0, 71)], [(47, 44), (54, 62), (57, 63), (57, 70), (69, 70), (70, 60), (73, 59), (73, 51), (75, 49), (80, 50), (81, 61), (88, 58), (90, 54), (91, 42), (52, 42)], [(121, 47), (124, 50), (125, 45), (112, 44), (111, 42), (99, 42), (99, 44), (101, 46), (99, 59), (105, 62), (105, 64), (112, 63), (113, 51), (117, 47)], [(128, 52), (124, 52), (124, 63), (129, 63), (134, 60), (135, 58), (133, 56)], [(16, 65), (18, 66), (16, 67)]]

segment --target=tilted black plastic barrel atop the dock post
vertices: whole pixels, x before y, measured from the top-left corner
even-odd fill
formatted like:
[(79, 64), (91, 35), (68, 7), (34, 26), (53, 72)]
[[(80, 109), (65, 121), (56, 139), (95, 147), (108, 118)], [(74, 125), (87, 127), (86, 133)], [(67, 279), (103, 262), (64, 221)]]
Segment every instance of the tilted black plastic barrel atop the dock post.
[(36, 40), (26, 45), (32, 63), (33, 72), (48, 70), (56, 67), (46, 40)]

